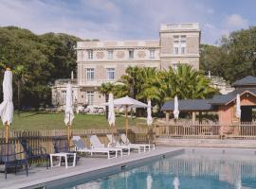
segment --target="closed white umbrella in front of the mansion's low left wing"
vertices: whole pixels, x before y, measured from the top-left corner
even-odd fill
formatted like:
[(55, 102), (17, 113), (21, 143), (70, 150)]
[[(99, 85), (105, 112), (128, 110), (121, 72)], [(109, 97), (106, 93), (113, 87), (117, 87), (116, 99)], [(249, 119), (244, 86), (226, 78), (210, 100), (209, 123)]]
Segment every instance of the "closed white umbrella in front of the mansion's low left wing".
[(72, 121), (75, 118), (73, 112), (72, 86), (70, 83), (66, 85), (64, 124), (67, 126), (67, 139), (70, 142)]

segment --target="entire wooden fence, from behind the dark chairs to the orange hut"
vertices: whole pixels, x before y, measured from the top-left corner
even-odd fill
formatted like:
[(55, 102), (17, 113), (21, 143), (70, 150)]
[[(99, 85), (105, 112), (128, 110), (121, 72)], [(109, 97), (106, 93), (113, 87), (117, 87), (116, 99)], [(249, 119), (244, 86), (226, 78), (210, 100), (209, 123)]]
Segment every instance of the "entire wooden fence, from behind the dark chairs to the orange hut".
[[(88, 136), (97, 134), (101, 142), (109, 143), (106, 134), (124, 133), (124, 129), (74, 129), (73, 135), (79, 135), (87, 146), (90, 146)], [(11, 130), (9, 142), (16, 144), (18, 151), (22, 150), (20, 139), (27, 139), (31, 147), (45, 147), (48, 153), (53, 152), (53, 139), (66, 139), (66, 129), (51, 130)], [(128, 138), (132, 143), (155, 143), (155, 138), (203, 138), (203, 139), (256, 139), (256, 122), (220, 126), (218, 123), (174, 122), (169, 125), (155, 125), (151, 128), (130, 128)], [(0, 131), (0, 142), (5, 141), (5, 130)]]

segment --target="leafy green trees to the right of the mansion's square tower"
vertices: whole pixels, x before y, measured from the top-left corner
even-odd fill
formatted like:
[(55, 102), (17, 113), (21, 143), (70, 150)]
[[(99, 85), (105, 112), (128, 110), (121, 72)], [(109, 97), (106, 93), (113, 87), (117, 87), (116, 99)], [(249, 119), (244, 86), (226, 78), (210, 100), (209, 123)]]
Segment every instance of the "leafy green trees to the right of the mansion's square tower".
[(256, 26), (233, 31), (219, 46), (201, 45), (200, 69), (233, 82), (256, 76)]

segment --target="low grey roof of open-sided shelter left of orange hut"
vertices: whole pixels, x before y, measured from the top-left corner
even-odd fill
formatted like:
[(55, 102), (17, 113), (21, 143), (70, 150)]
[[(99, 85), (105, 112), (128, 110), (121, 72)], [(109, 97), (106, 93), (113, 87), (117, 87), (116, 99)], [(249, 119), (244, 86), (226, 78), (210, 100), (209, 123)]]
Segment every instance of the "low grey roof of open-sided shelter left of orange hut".
[[(211, 111), (213, 107), (208, 99), (185, 99), (178, 100), (178, 110), (180, 112)], [(161, 111), (174, 111), (174, 100), (165, 102)]]

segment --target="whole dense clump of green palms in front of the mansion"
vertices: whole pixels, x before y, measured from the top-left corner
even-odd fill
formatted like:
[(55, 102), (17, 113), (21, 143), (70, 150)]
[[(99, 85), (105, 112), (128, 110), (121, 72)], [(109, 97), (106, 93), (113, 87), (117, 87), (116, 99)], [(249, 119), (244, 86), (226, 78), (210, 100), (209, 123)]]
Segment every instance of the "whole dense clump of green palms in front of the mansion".
[(152, 99), (153, 104), (158, 107), (173, 99), (175, 95), (178, 95), (179, 99), (202, 99), (217, 93), (210, 87), (210, 79), (188, 64), (179, 64), (176, 70), (171, 66), (168, 70), (128, 67), (126, 75), (122, 76), (119, 82), (122, 85), (115, 86), (114, 91), (129, 94), (145, 103)]

